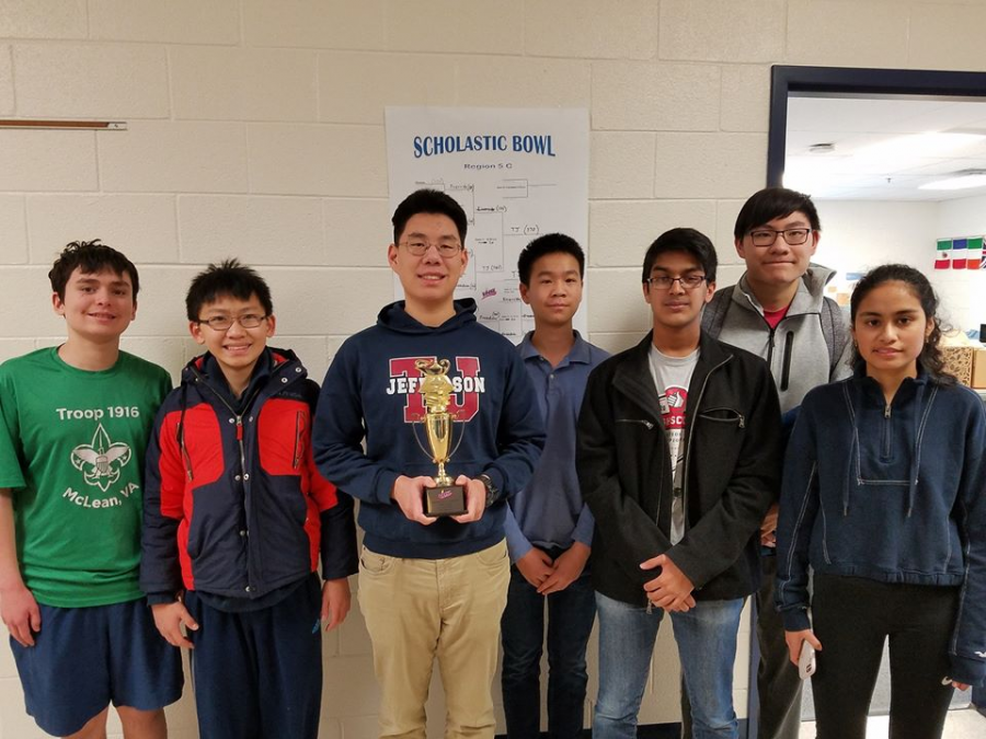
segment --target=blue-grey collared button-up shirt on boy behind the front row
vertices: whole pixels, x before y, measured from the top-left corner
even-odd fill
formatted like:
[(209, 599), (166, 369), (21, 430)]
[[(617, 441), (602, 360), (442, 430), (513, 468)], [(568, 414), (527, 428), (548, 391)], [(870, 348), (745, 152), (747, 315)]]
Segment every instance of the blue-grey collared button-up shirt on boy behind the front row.
[(548, 441), (530, 484), (507, 507), (504, 528), (512, 562), (532, 546), (593, 545), (595, 521), (582, 501), (575, 473), (575, 422), (589, 372), (609, 354), (574, 333), (575, 344), (558, 367), (552, 368), (531, 344), (532, 333), (517, 347), (537, 391)]

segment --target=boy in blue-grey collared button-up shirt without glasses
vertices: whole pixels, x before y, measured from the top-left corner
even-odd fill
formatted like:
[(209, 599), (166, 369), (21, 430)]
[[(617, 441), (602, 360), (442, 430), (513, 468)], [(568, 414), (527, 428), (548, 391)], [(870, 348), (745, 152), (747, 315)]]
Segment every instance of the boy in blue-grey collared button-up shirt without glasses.
[(589, 372), (609, 355), (572, 328), (585, 255), (574, 239), (535, 239), (518, 261), (535, 331), (518, 347), (537, 390), (548, 440), (530, 484), (507, 508), (511, 585), (503, 614), (503, 707), (511, 739), (540, 732), (540, 661), (548, 610), (548, 734), (582, 731), (585, 650), (596, 605), (587, 563), (594, 520), (575, 472), (575, 422)]

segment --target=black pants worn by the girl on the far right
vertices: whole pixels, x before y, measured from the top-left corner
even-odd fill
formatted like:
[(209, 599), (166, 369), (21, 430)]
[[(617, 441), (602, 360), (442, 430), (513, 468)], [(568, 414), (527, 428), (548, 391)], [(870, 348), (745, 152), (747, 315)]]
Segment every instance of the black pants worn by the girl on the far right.
[(890, 639), (890, 739), (941, 737), (953, 689), (948, 645), (959, 588), (815, 574), (812, 678), (818, 739), (865, 739), (884, 639)]

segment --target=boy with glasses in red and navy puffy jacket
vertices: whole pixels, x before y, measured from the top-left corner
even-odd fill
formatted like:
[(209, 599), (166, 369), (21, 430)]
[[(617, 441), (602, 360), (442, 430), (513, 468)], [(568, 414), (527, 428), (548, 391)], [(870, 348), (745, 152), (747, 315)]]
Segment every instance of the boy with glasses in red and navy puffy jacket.
[(186, 308), (207, 351), (154, 423), (140, 585), (164, 638), (194, 649), (203, 737), (314, 739), (319, 625), (345, 619), (357, 569), (352, 500), (312, 462), (318, 386), (266, 346), (266, 282), (236, 259), (210, 265)]

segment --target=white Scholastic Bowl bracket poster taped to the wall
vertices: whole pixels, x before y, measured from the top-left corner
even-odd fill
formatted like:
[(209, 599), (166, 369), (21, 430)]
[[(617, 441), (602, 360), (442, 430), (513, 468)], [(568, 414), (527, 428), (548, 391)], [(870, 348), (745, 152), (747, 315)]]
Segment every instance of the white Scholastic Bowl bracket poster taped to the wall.
[[(534, 328), (517, 288), (520, 250), (554, 232), (586, 246), (588, 147), (583, 108), (387, 108), (391, 210), (422, 187), (462, 206), (469, 266), (456, 298), (473, 298), (480, 322), (513, 342)], [(403, 299), (397, 279), (394, 295)], [(583, 336), (585, 316), (583, 299)]]

